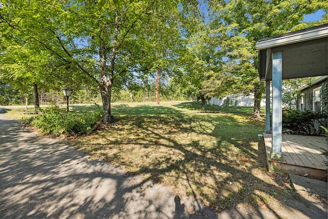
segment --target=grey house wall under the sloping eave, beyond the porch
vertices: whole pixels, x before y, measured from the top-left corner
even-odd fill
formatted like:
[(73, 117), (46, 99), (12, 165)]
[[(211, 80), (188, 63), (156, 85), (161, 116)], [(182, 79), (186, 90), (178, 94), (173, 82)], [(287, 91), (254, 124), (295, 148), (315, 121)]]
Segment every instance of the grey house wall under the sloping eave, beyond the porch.
[[(301, 90), (300, 96), (297, 97), (296, 109), (300, 111), (304, 111), (305, 109), (313, 111), (313, 90), (321, 87), (321, 85), (326, 81), (327, 80), (324, 80), (318, 84), (312, 85), (311, 87)], [(301, 107), (301, 104), (303, 104), (303, 107)]]

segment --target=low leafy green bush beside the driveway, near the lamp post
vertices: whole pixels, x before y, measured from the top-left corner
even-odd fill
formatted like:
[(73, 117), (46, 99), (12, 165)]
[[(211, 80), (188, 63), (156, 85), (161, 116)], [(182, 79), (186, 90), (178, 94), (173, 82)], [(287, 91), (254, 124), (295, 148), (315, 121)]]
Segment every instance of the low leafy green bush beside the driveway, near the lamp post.
[(38, 108), (40, 116), (31, 123), (46, 134), (84, 134), (101, 119), (101, 112), (95, 113), (63, 113), (57, 106)]

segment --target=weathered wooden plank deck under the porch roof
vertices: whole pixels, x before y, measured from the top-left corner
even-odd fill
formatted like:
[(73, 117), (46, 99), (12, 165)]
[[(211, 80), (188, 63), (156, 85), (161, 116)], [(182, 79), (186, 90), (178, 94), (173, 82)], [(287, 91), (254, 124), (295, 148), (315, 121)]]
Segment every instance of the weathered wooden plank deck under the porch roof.
[(271, 141), (271, 134), (264, 134), (269, 171), (308, 174), (318, 178), (327, 178), (327, 166), (323, 164), (326, 158), (318, 148), (328, 148), (326, 137), (282, 134), (283, 162), (270, 159)]

